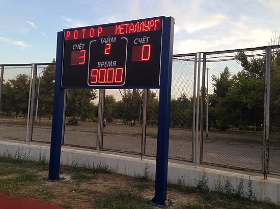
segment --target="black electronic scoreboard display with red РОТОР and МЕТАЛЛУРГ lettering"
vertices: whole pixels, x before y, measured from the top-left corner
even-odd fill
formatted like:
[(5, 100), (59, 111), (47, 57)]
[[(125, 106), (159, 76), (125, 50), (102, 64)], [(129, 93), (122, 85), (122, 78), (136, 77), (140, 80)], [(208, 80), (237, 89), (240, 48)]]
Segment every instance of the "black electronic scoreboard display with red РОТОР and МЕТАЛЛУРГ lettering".
[(62, 87), (159, 87), (164, 18), (64, 29)]

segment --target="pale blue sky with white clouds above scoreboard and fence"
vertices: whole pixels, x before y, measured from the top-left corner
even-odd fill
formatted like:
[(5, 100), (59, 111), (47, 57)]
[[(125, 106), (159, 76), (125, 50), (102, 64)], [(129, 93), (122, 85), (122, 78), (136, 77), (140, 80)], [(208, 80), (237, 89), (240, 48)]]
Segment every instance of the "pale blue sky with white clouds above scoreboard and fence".
[(65, 28), (175, 18), (174, 54), (266, 46), (280, 32), (279, 0), (1, 0), (0, 64), (51, 62)]

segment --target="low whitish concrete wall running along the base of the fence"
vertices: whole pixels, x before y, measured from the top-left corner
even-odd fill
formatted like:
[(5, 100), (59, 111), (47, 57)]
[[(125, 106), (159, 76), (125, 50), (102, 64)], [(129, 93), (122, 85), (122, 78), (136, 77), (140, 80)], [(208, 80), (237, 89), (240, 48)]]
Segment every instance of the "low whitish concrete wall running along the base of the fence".
[[(11, 154), (12, 156), (38, 161), (40, 158), (49, 160), (49, 147), (39, 145), (26, 145), (11, 142), (0, 142), (0, 155)], [(155, 160), (141, 160), (138, 158), (120, 156), (114, 154), (97, 154), (94, 151), (76, 150), (62, 148), (61, 163), (75, 166), (108, 166), (115, 172), (135, 176), (149, 175), (155, 178)], [(216, 190), (219, 185), (231, 185), (237, 190), (243, 186), (245, 194), (256, 196), (257, 200), (269, 200), (280, 204), (280, 180), (268, 178), (264, 180), (260, 176), (249, 176), (241, 173), (202, 168), (190, 165), (169, 163), (168, 179), (173, 184), (184, 184), (185, 186), (197, 186), (204, 180), (209, 190)], [(211, 192), (211, 191), (210, 191)]]

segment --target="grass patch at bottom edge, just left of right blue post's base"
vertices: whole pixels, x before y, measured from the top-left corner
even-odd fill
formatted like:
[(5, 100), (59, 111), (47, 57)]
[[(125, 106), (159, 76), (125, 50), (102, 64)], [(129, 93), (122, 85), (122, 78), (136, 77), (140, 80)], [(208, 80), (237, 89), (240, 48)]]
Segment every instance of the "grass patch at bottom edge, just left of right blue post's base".
[(94, 199), (94, 208), (130, 209), (130, 208), (154, 208), (148, 205), (148, 199), (132, 191), (115, 189), (110, 194), (103, 194)]

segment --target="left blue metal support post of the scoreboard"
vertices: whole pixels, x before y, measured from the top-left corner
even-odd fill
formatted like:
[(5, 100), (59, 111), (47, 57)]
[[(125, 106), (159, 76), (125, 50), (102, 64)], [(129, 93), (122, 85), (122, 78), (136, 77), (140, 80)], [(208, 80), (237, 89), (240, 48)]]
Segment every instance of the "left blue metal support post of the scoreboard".
[(48, 180), (59, 180), (65, 91), (61, 88), (63, 31), (58, 32)]

